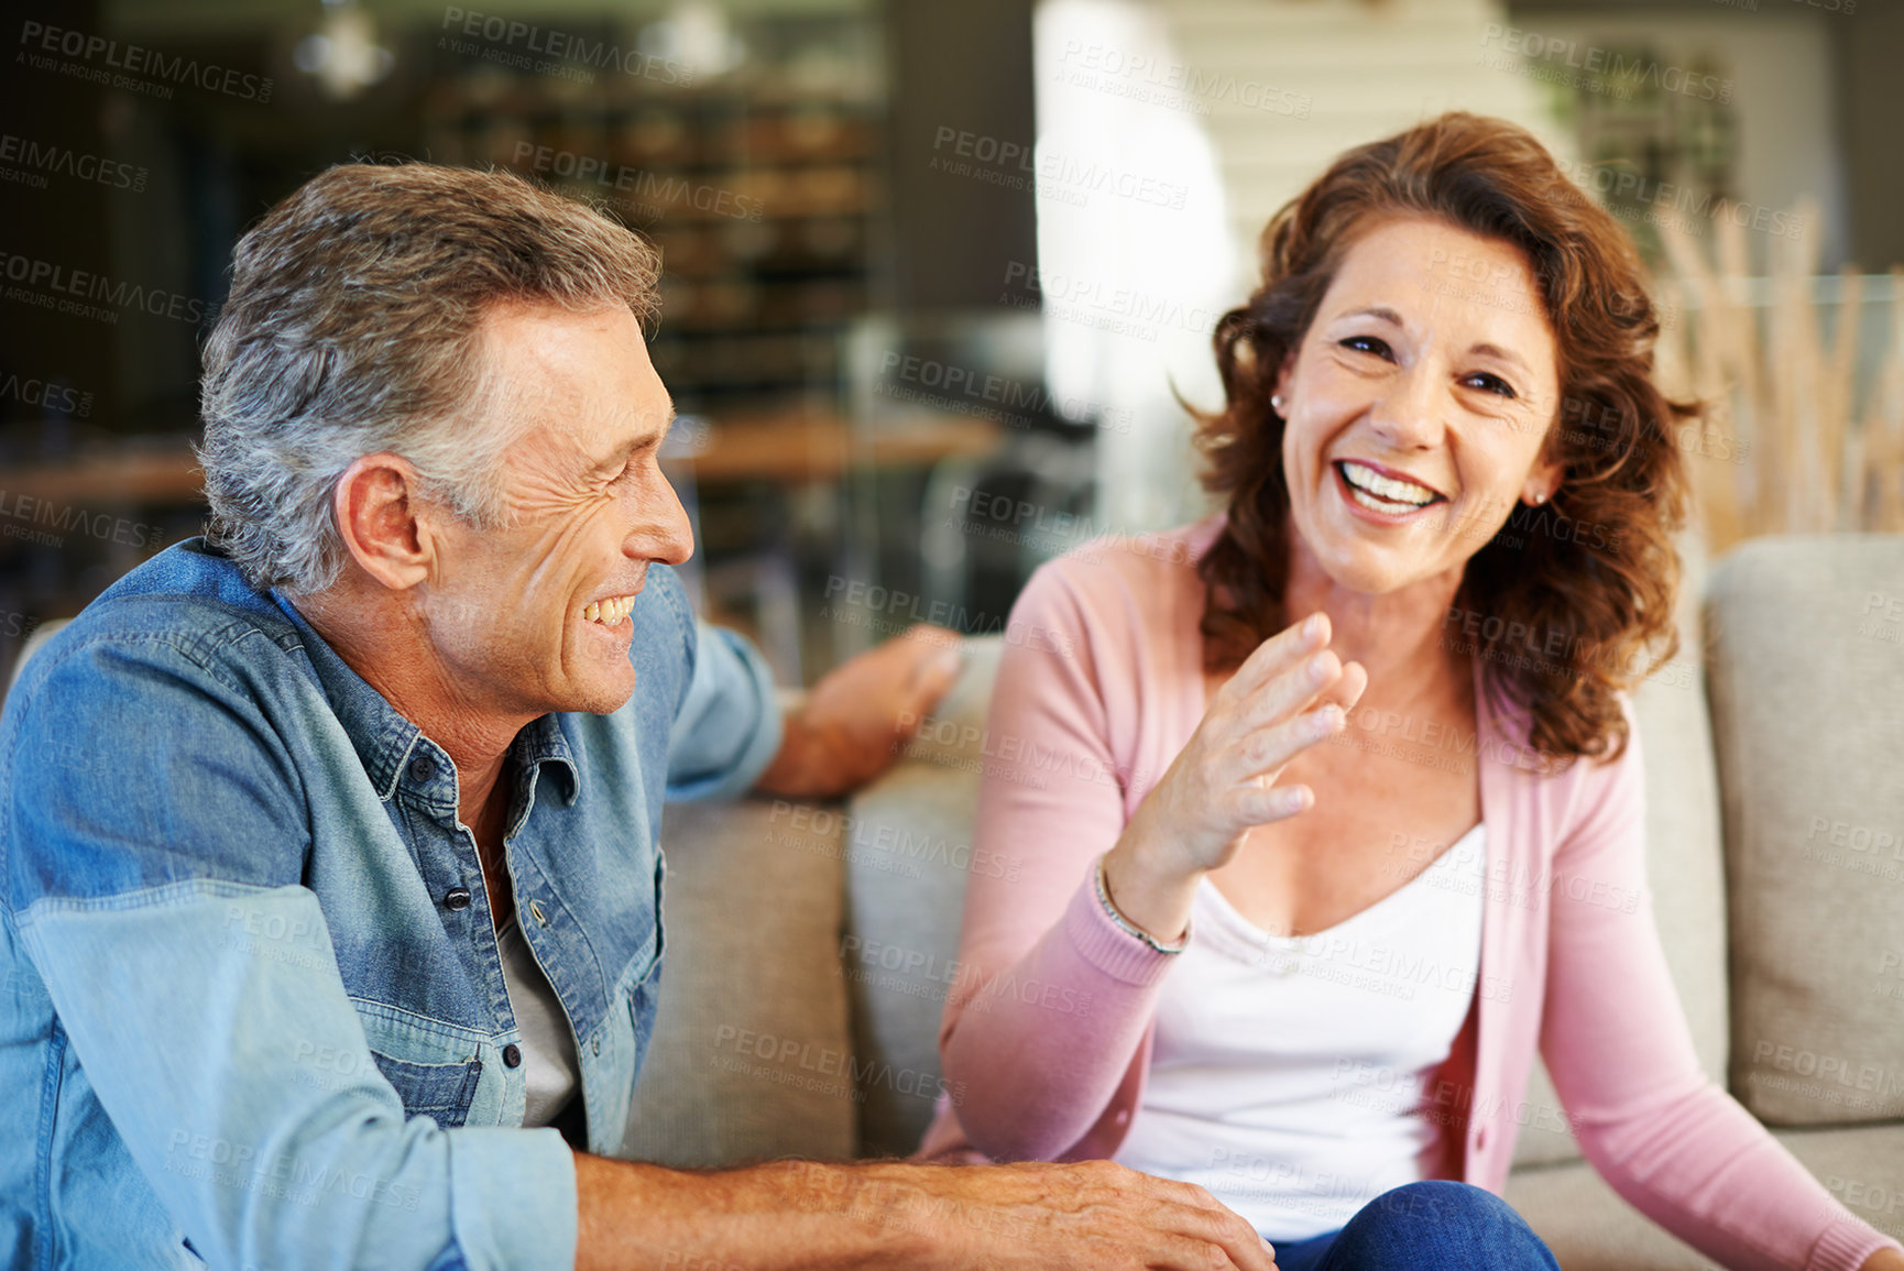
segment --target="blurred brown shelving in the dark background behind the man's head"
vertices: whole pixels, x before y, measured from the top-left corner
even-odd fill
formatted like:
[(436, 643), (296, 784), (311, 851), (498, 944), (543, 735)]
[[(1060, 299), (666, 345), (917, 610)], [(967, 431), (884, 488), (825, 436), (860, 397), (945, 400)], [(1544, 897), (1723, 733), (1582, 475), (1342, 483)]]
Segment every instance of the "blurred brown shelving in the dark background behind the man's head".
[[(878, 293), (883, 32), (866, 13), (735, 17), (746, 63), (691, 82), (463, 67), (426, 150), (613, 209), (663, 259), (655, 365), (684, 411), (842, 392), (830, 344)], [(817, 74), (819, 67), (830, 67)]]

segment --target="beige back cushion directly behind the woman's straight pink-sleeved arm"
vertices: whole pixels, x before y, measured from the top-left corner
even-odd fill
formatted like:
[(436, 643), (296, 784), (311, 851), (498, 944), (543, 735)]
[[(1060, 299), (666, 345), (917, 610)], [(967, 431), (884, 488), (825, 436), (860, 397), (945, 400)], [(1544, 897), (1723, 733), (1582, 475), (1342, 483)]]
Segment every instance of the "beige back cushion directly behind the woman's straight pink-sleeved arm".
[[(1712, 759), (1702, 670), (1700, 590), (1706, 552), (1696, 535), (1679, 538), (1679, 653), (1639, 685), (1634, 714), (1647, 769), (1647, 881), (1660, 946), (1706, 1073), (1725, 1081), (1725, 860), (1719, 786)], [(1529, 1115), (1514, 1145), (1516, 1164), (1578, 1161), (1580, 1145), (1559, 1115), (1546, 1064), (1527, 1083)]]

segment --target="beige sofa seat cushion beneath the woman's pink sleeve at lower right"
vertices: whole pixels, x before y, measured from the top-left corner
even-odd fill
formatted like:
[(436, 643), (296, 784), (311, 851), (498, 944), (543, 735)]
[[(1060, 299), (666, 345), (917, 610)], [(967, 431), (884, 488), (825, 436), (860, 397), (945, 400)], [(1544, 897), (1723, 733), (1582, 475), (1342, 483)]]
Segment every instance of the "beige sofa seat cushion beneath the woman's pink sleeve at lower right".
[[(1834, 1197), (1904, 1239), (1904, 1126), (1780, 1130)], [(1586, 1163), (1516, 1170), (1508, 1203), (1565, 1271), (1708, 1271), (1712, 1261), (1632, 1208)]]

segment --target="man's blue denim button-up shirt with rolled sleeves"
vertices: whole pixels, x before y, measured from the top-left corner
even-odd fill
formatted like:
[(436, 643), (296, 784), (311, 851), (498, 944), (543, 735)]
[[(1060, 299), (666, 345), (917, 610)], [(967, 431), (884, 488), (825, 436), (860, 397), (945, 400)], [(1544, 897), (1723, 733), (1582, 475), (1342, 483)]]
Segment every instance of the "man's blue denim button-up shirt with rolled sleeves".
[[(664, 799), (744, 790), (773, 681), (663, 565), (634, 696), (522, 729), (506, 860), (621, 1147), (655, 1022)], [(449, 755), (274, 592), (168, 548), (0, 717), (0, 1263), (562, 1267), (575, 1166)]]

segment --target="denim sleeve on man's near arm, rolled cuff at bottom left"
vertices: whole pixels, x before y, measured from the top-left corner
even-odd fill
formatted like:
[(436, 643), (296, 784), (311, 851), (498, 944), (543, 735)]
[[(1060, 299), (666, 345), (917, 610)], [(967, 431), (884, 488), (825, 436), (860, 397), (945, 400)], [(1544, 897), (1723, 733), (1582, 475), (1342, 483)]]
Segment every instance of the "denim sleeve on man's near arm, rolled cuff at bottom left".
[[(55, 1045), (215, 1267), (571, 1267), (556, 1130), (406, 1117), (299, 879), (307, 809), (246, 693), (173, 647), (34, 685), (6, 887)], [(190, 746), (177, 744), (190, 736)]]

